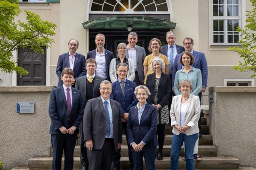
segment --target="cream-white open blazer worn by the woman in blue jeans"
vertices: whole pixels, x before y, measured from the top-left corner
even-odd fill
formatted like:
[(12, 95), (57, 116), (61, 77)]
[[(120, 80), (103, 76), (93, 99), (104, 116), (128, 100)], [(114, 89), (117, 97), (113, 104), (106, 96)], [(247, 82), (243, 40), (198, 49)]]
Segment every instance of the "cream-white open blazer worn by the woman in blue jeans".
[[(171, 105), (171, 125), (174, 127), (174, 125), (180, 125), (180, 109), (181, 109), (181, 98), (182, 95), (174, 96), (172, 99), (172, 105)], [(198, 120), (200, 117), (201, 112), (201, 106), (200, 106), (200, 100), (198, 96), (191, 95), (188, 98), (188, 104), (186, 108), (185, 113), (185, 125), (191, 126), (190, 129), (186, 130), (185, 133), (187, 135), (192, 135), (199, 132), (198, 129)], [(177, 129), (173, 128), (172, 133), (179, 135)]]

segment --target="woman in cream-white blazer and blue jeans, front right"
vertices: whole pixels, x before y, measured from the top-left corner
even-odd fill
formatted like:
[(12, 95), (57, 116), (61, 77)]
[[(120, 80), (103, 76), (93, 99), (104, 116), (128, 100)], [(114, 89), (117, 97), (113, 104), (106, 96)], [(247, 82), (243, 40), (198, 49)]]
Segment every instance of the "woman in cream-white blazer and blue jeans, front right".
[(178, 170), (179, 156), (185, 143), (186, 169), (194, 169), (194, 147), (198, 138), (198, 120), (201, 112), (198, 96), (190, 94), (193, 89), (189, 80), (182, 80), (179, 89), (181, 95), (174, 96), (171, 105), (171, 125), (173, 138), (171, 148), (171, 170)]

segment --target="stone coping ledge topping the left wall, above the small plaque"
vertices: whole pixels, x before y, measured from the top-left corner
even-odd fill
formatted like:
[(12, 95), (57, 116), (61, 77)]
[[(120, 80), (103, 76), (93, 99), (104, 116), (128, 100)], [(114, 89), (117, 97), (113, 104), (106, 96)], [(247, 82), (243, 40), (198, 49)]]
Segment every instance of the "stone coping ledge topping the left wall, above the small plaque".
[(50, 92), (55, 86), (12, 86), (1, 87), (0, 92)]

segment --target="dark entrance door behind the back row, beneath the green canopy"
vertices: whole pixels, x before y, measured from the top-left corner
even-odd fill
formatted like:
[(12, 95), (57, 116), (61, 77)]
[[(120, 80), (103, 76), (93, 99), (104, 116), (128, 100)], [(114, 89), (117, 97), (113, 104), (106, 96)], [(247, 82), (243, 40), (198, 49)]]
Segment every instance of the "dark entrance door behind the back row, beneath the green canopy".
[[(162, 46), (166, 44), (166, 32), (170, 30), (132, 30), (138, 35), (137, 45), (144, 47), (146, 54), (149, 55), (148, 45), (152, 38), (158, 38), (162, 42)], [(127, 44), (127, 36), (129, 31), (127, 30), (96, 30), (90, 29), (90, 45), (89, 50), (96, 48), (95, 36), (98, 33), (103, 33), (106, 37), (105, 48), (116, 54), (116, 47), (119, 43)], [(116, 55), (115, 55), (116, 56)]]

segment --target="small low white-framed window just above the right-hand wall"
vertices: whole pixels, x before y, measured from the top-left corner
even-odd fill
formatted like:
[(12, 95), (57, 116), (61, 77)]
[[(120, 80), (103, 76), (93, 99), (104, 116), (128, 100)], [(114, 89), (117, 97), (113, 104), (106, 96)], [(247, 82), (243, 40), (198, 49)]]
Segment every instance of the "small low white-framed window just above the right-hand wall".
[(254, 79), (224, 79), (224, 86), (254, 86)]

